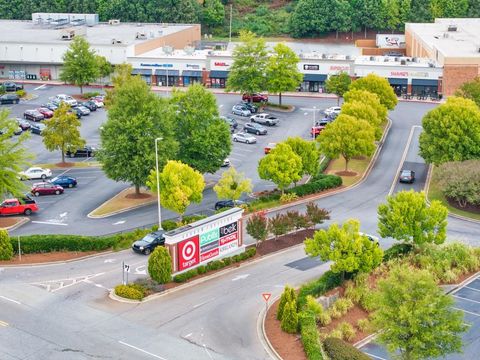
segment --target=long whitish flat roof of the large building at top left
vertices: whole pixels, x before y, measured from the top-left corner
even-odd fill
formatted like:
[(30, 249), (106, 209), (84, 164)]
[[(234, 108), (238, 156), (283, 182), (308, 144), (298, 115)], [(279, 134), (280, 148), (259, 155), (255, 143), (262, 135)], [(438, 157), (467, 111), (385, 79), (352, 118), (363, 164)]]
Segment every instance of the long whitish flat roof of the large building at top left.
[[(140, 44), (175, 32), (188, 29), (190, 24), (134, 24), (120, 23), (109, 25), (100, 23), (94, 26), (85, 26), (85, 38), (91, 45), (111, 45), (112, 39), (121, 41), (116, 46)], [(73, 29), (80, 28), (73, 27)], [(67, 26), (68, 28), (68, 26)], [(64, 28), (65, 29), (65, 28)], [(34, 24), (32, 21), (0, 20), (0, 42), (2, 43), (35, 43), (35, 44), (65, 44), (68, 40), (61, 39), (62, 29), (47, 28)], [(136, 39), (137, 33), (145, 34), (144, 39)]]

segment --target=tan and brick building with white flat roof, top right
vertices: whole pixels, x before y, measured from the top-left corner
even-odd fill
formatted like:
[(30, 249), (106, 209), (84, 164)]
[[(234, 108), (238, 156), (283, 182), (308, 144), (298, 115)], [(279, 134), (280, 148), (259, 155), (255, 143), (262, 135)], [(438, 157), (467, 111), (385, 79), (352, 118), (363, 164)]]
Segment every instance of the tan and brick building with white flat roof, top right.
[(429, 58), (443, 67), (444, 95), (453, 95), (480, 75), (480, 18), (407, 23), (405, 42), (408, 56)]

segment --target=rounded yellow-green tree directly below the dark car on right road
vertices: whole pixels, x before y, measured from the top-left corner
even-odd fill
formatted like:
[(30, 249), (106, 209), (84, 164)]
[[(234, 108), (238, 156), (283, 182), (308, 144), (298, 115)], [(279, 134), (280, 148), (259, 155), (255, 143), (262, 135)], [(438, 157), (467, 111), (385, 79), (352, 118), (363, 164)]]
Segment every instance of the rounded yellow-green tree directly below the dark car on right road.
[(401, 191), (378, 207), (378, 233), (416, 246), (442, 244), (447, 215), (447, 208), (438, 200), (427, 206), (423, 192)]

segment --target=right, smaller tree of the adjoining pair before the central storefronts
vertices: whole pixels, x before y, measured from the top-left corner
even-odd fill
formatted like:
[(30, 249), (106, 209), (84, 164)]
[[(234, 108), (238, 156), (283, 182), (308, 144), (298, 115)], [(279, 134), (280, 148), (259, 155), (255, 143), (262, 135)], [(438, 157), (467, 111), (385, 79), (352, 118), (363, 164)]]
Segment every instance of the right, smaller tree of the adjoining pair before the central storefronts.
[(283, 43), (273, 48), (266, 66), (267, 90), (278, 94), (278, 103), (282, 105), (282, 92), (294, 91), (302, 82), (303, 74), (298, 71), (297, 54)]

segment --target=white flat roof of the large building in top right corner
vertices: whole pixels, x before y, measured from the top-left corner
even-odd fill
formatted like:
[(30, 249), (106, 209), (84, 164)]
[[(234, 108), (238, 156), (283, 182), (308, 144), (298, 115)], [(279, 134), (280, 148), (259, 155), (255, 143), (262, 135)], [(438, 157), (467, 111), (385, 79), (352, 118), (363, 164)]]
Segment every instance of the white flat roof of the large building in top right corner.
[[(456, 31), (448, 31), (449, 26), (456, 26)], [(480, 57), (480, 18), (441, 18), (435, 19), (434, 23), (407, 23), (406, 29), (446, 58)]]

